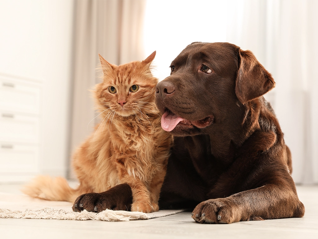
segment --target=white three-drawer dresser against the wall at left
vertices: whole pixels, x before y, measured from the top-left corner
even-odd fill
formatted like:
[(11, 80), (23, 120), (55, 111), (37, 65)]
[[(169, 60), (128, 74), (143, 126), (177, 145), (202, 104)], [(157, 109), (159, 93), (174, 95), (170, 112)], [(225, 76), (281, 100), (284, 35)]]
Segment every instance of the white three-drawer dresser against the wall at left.
[(39, 172), (41, 91), (40, 82), (0, 74), (0, 183)]

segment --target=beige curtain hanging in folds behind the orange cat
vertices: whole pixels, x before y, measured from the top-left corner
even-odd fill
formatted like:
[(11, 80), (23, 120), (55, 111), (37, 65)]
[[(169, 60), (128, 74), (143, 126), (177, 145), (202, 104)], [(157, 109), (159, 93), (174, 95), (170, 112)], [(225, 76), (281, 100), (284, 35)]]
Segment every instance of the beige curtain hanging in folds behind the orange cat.
[[(74, 2), (72, 152), (93, 131), (96, 123), (93, 120), (96, 116), (93, 99), (88, 89), (98, 83), (98, 54), (116, 65), (142, 60), (145, 9), (144, 0)], [(72, 172), (70, 177), (73, 177)]]

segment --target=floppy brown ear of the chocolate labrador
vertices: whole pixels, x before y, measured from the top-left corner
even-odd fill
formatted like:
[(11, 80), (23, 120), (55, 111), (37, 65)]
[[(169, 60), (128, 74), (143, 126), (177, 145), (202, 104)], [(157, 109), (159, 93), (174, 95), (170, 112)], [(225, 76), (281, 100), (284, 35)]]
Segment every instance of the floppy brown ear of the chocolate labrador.
[(238, 49), (238, 71), (235, 94), (242, 104), (273, 89), (271, 74), (256, 60), (251, 51)]

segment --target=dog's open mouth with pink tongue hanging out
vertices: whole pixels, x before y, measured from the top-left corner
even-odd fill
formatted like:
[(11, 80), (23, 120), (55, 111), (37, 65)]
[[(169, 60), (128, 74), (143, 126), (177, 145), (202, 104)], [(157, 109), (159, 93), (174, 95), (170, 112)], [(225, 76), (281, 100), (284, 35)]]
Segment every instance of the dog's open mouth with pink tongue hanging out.
[(186, 120), (169, 110), (166, 110), (161, 117), (161, 127), (168, 132), (172, 131), (177, 125), (205, 128), (213, 123), (213, 118), (213, 116), (208, 116), (202, 120)]

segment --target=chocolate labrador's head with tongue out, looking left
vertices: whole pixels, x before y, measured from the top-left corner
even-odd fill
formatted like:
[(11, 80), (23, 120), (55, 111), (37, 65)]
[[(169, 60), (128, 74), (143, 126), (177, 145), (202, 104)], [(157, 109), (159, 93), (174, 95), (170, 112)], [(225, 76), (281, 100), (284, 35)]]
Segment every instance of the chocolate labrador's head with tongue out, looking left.
[(211, 134), (217, 124), (237, 124), (239, 108), (275, 82), (250, 51), (230, 43), (194, 42), (171, 63), (156, 86), (162, 128), (176, 136)]

